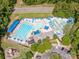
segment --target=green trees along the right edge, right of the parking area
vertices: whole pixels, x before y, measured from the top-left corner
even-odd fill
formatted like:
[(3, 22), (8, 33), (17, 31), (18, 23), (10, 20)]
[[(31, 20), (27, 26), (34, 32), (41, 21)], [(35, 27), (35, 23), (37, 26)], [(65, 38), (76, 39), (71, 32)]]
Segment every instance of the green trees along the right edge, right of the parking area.
[[(79, 56), (79, 28), (74, 32), (71, 53)], [(73, 53), (75, 52), (75, 53)]]

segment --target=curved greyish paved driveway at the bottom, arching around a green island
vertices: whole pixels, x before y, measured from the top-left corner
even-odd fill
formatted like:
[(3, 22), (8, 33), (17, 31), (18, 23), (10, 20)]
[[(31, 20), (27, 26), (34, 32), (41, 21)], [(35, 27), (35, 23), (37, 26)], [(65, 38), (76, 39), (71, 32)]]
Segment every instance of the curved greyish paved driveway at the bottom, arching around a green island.
[(71, 55), (66, 53), (66, 51), (61, 51), (61, 47), (57, 47), (53, 46), (50, 50), (50, 52), (44, 53), (41, 57), (41, 59), (49, 59), (49, 56), (51, 55), (51, 53), (56, 52), (58, 54), (60, 54), (60, 56), (62, 57), (62, 59), (72, 59)]

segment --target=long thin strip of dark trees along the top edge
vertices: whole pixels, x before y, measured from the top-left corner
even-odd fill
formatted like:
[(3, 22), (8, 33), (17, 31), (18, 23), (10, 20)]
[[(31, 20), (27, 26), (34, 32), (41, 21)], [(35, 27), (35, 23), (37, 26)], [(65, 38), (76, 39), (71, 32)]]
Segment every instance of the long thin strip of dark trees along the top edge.
[(72, 3), (72, 2), (75, 2), (75, 3), (79, 3), (78, 0), (23, 0), (23, 2), (27, 5), (38, 5), (38, 4), (43, 4), (43, 3), (58, 3), (58, 2), (66, 2), (66, 3)]

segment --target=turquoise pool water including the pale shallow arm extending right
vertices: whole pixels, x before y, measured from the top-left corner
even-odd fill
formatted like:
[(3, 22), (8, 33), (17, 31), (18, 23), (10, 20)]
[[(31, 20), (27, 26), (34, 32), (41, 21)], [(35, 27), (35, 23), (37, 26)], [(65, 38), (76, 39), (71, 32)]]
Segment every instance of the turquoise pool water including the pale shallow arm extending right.
[(36, 26), (29, 25), (28, 23), (22, 23), (18, 30), (14, 33), (13, 37), (25, 41), (28, 38), (28, 33), (30, 30), (36, 30), (42, 28), (42, 24), (38, 24)]

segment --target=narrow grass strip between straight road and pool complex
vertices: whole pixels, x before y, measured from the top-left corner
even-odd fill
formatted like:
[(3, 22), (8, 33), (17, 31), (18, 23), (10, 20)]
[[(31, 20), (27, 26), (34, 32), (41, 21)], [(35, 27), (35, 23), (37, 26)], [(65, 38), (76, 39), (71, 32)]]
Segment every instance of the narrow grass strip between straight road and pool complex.
[(39, 18), (39, 17), (48, 17), (52, 16), (51, 13), (15, 13), (11, 15), (11, 19), (15, 19), (16, 16), (20, 16), (22, 18)]

